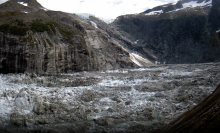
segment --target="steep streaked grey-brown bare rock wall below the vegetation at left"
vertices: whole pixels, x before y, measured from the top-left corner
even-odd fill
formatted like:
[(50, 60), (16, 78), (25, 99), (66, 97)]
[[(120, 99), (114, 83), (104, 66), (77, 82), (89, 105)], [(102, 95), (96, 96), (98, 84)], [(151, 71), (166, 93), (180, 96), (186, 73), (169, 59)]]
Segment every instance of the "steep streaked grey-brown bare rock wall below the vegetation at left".
[[(28, 42), (22, 42), (28, 37)], [(27, 38), (1, 34), (1, 73), (56, 74), (98, 69), (87, 49), (55, 42), (47, 33), (30, 34)]]

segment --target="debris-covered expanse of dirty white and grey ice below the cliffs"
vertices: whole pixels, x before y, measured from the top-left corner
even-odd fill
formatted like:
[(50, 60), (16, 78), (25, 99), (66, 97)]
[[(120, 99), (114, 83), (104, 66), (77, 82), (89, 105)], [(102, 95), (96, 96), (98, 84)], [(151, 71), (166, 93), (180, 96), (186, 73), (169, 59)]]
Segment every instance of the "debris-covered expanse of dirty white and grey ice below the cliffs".
[(0, 122), (11, 131), (89, 122), (85, 132), (133, 131), (137, 124), (152, 132), (201, 102), (219, 83), (220, 63), (56, 76), (1, 74)]

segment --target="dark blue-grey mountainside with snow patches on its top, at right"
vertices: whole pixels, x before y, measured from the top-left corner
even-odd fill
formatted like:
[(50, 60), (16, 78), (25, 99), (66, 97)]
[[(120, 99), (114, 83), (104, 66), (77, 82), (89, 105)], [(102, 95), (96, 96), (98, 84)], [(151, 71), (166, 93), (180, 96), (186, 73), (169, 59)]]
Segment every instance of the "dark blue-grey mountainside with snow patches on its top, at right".
[[(182, 3), (186, 2), (188, 1), (182, 1)], [(219, 1), (213, 0), (212, 7), (185, 8), (168, 12), (176, 9), (177, 5), (181, 7), (181, 2), (176, 5), (155, 7), (144, 12), (167, 10), (158, 15), (142, 13), (120, 16), (113, 25), (121, 32), (127, 33), (133, 41), (138, 40), (137, 45), (155, 55), (160, 62), (219, 61), (220, 33), (217, 32), (220, 29)]]

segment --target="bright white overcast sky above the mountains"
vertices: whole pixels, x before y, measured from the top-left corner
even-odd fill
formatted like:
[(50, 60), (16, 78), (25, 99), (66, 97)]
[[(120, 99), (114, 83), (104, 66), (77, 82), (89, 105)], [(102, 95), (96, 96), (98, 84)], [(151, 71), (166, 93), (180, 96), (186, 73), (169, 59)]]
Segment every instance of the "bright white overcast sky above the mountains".
[[(0, 0), (0, 2), (7, 0)], [(90, 13), (96, 17), (115, 19), (119, 15), (135, 14), (177, 0), (37, 0), (50, 10), (69, 13)]]

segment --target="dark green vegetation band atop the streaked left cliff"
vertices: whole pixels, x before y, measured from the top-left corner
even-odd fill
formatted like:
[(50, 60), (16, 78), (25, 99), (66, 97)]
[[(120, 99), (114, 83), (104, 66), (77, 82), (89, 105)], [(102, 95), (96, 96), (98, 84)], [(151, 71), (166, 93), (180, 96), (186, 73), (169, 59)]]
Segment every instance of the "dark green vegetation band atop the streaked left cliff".
[[(85, 34), (84, 28), (81, 27), (77, 21), (74, 21), (71, 24), (48, 19), (34, 19), (30, 21), (28, 19), (23, 20), (16, 18), (0, 25), (0, 32), (17, 36), (25, 36), (29, 30), (34, 33), (47, 32), (49, 35), (55, 35), (59, 32), (62, 36), (62, 41), (69, 43), (71, 46), (77, 46), (79, 49), (86, 49), (83, 37)], [(54, 46), (49, 38), (43, 39), (43, 45), (45, 47), (46, 44), (50, 47)]]

